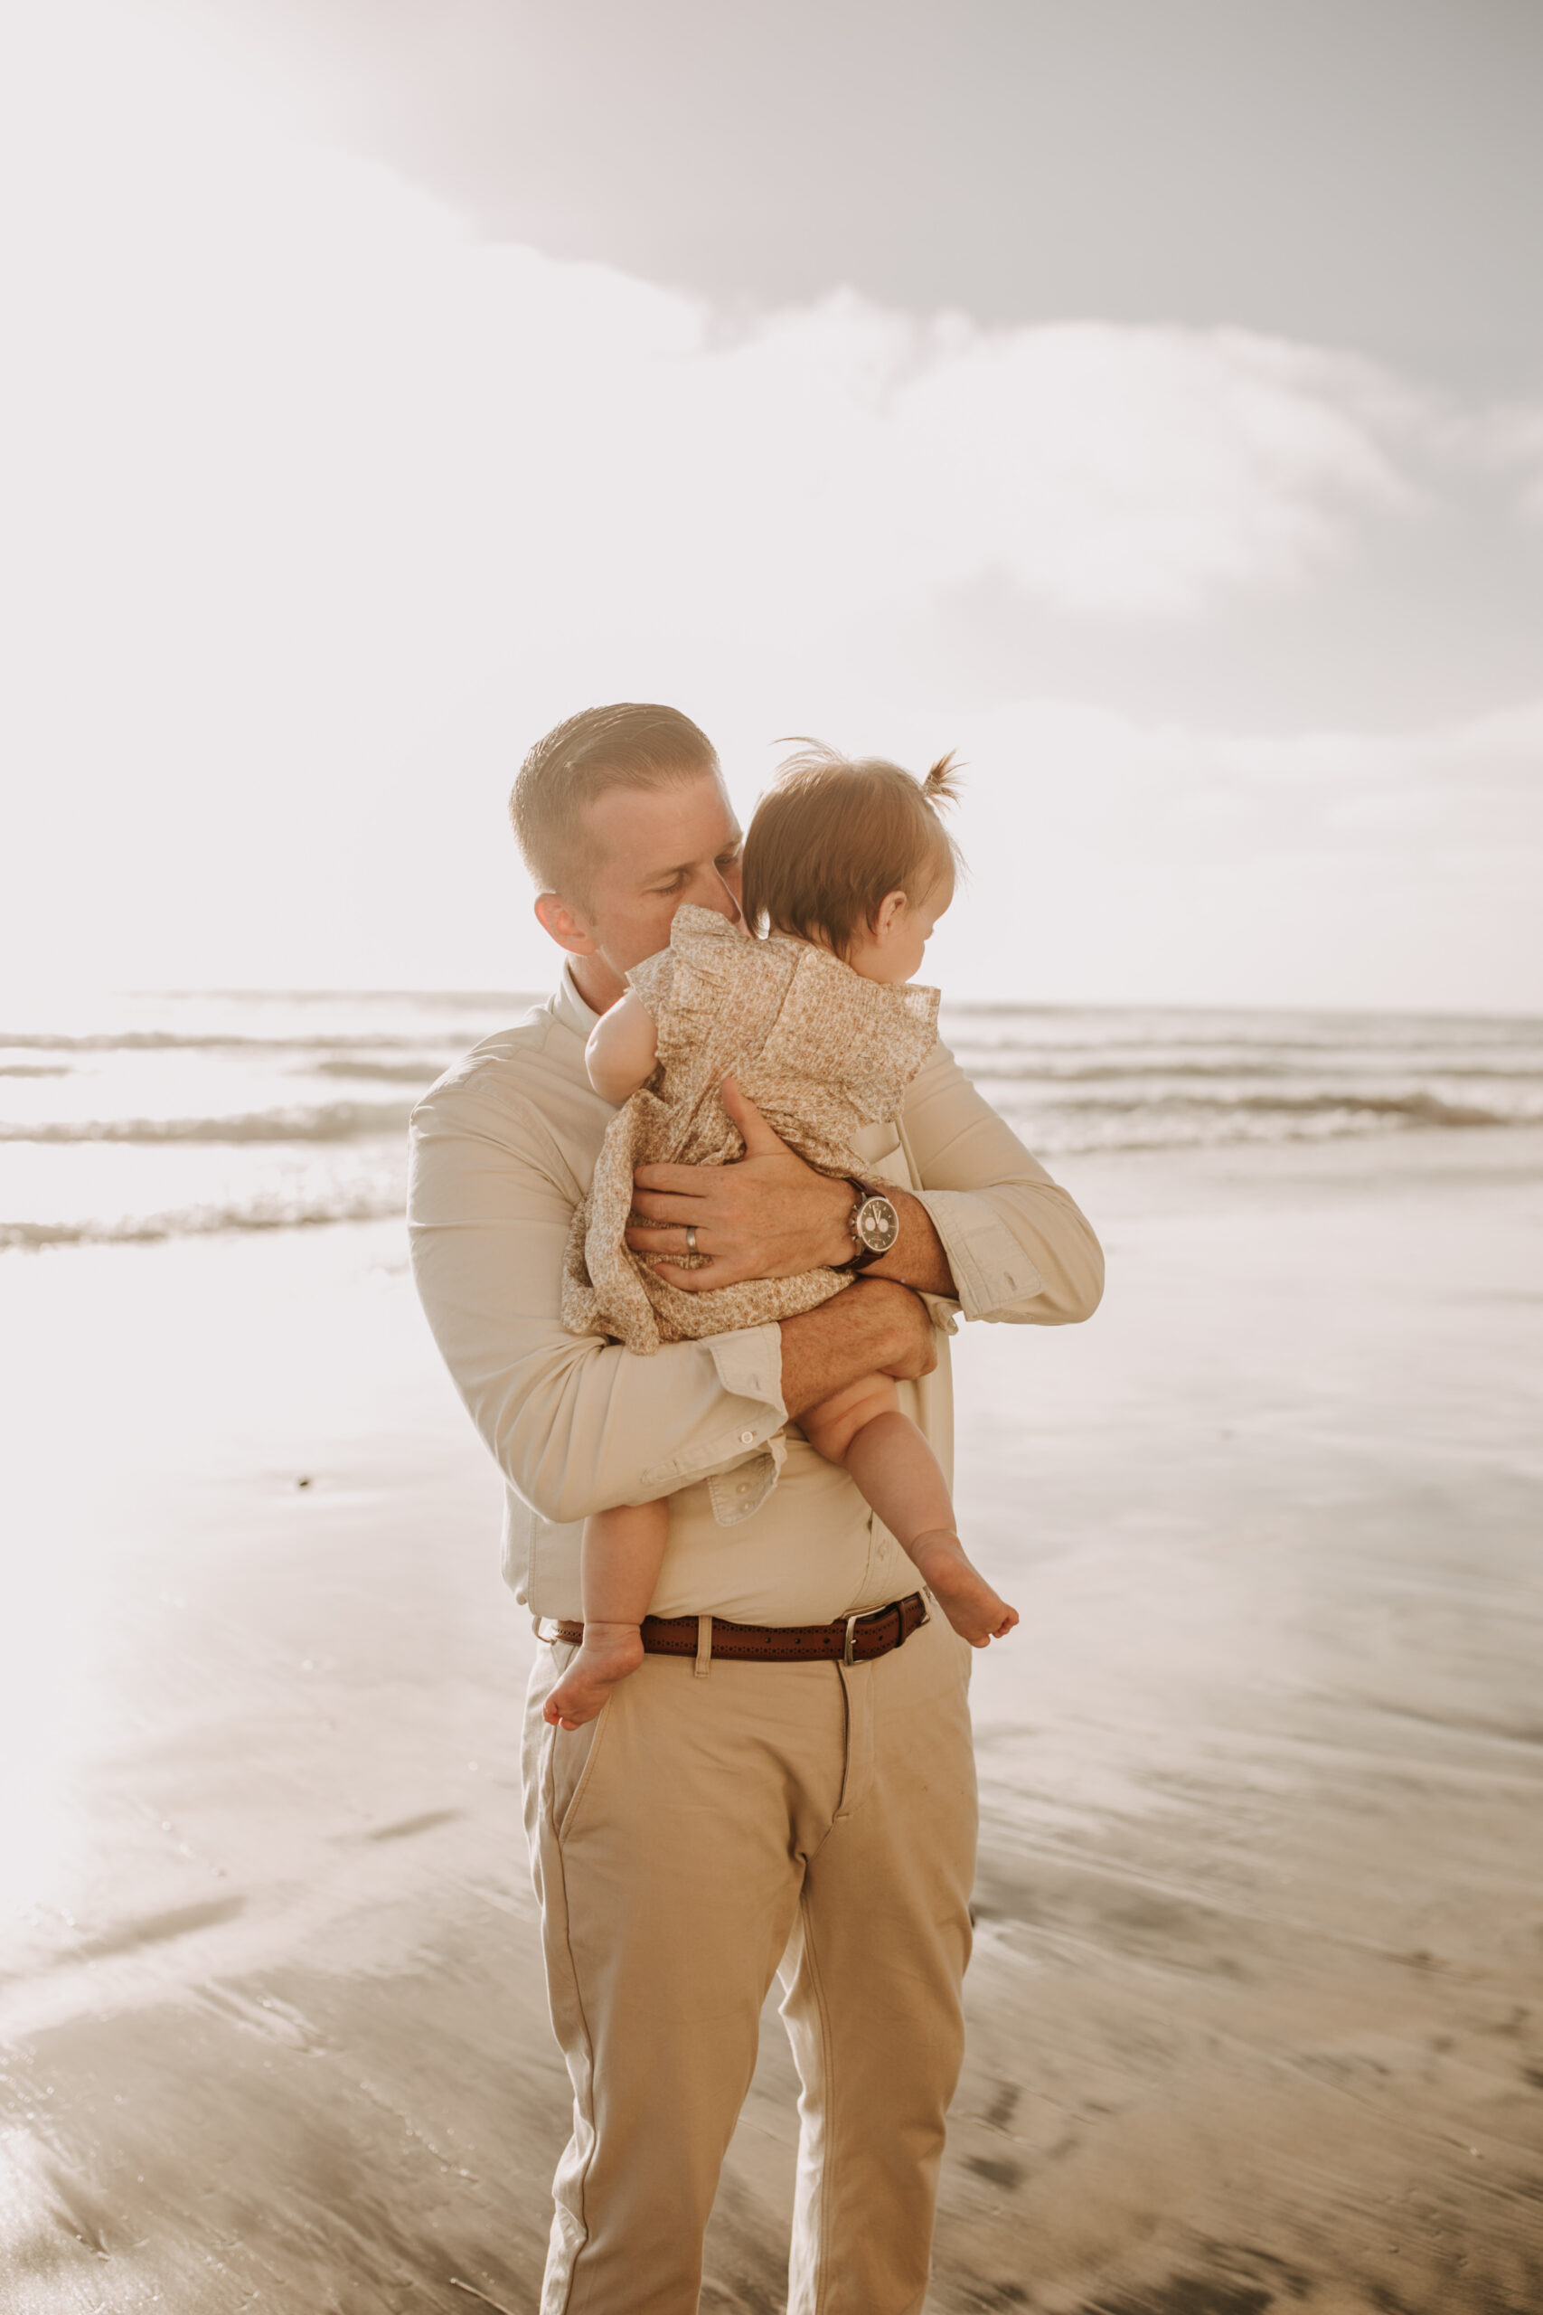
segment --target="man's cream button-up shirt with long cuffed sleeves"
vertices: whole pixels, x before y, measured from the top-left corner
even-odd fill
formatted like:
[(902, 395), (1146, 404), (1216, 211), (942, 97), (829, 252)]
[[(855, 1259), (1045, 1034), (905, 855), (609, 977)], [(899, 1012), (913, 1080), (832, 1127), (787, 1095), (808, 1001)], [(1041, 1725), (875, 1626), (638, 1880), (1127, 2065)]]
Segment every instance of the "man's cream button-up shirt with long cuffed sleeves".
[[(597, 1014), (564, 970), (518, 1028), (486, 1037), (412, 1116), (412, 1269), (435, 1340), (507, 1484), (504, 1577), (534, 1616), (578, 1616), (590, 1512), (671, 1498), (657, 1616), (828, 1623), (916, 1588), (916, 1570), (844, 1470), (787, 1428), (782, 1333), (750, 1326), (652, 1359), (571, 1336), (562, 1250), (606, 1125), (583, 1049)], [(858, 1141), (863, 1171), (914, 1190), (953, 1271), (955, 1313), (1057, 1326), (1103, 1289), (1076, 1204), (939, 1042), (898, 1125)], [(948, 1343), (902, 1382), (944, 1470)]]

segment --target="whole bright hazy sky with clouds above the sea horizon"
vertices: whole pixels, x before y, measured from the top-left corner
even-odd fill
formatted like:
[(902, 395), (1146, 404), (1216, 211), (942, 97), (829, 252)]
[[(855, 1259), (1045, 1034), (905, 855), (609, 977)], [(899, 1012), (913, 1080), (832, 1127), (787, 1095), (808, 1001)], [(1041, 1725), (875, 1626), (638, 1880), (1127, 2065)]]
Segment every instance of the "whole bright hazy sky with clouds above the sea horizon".
[(960, 745), (960, 993), (1543, 1009), (1543, 12), (0, 32), (12, 975), (534, 986), (590, 699)]

